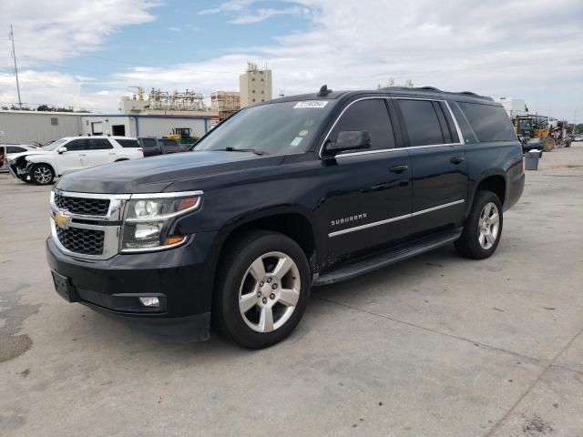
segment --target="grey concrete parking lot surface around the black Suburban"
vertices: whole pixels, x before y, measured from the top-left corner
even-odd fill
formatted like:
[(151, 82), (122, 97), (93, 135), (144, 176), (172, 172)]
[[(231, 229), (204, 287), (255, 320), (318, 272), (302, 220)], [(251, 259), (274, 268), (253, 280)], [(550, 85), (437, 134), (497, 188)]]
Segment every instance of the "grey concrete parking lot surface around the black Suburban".
[(4, 437), (583, 436), (583, 143), (527, 172), (491, 259), (445, 247), (314, 289), (263, 351), (162, 343), (61, 300), (49, 190), (0, 174)]

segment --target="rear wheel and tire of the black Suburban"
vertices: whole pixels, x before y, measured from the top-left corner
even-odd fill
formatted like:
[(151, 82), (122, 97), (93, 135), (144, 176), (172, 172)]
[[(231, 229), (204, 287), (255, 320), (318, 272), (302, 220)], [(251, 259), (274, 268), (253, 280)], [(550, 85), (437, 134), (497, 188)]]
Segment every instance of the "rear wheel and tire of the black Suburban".
[(492, 191), (478, 191), (462, 236), (455, 241), (455, 249), (465, 258), (491, 257), (500, 242), (502, 224), (500, 199)]

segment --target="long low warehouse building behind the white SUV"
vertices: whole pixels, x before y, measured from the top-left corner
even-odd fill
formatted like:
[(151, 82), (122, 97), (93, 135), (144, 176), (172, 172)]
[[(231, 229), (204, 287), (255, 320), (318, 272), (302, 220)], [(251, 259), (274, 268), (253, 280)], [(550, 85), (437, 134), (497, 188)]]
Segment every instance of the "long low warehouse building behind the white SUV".
[(0, 143), (45, 144), (77, 135), (164, 137), (175, 128), (189, 128), (201, 137), (211, 127), (211, 116), (145, 114), (79, 114), (37, 111), (0, 111)]

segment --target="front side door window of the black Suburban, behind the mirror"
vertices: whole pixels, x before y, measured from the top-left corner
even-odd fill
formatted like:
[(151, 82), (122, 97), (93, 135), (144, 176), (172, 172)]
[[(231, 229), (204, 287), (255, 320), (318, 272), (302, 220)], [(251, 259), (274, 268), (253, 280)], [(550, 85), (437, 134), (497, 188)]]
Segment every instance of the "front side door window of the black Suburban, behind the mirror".
[(393, 127), (384, 99), (366, 99), (353, 103), (336, 123), (330, 139), (336, 141), (343, 130), (368, 130), (372, 150), (394, 148)]

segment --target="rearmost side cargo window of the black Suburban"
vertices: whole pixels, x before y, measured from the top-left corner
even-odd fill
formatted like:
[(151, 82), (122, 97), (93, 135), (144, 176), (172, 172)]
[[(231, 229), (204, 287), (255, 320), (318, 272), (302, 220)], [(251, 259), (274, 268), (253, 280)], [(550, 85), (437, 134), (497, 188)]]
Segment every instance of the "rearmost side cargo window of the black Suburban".
[(517, 139), (504, 107), (458, 103), (480, 141), (511, 141)]

